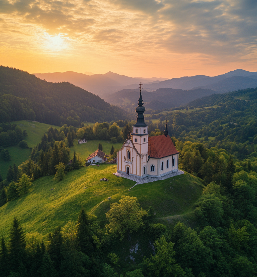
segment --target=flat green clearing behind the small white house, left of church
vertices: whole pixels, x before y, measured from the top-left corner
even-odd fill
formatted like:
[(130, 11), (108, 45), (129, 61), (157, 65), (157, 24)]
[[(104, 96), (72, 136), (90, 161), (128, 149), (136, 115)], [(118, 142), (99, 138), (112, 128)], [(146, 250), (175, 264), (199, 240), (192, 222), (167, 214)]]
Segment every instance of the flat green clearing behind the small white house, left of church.
[(90, 154), (92, 154), (98, 149), (99, 143), (102, 144), (103, 152), (106, 153), (107, 155), (110, 154), (112, 145), (114, 148), (117, 148), (117, 149), (120, 149), (123, 145), (123, 143), (112, 143), (107, 140), (88, 140), (87, 143), (78, 144), (78, 140), (74, 139), (73, 141), (74, 146), (70, 147), (71, 158), (72, 158), (73, 152), (75, 151), (76, 153), (80, 153), (83, 159), (87, 159)]

